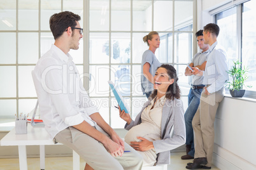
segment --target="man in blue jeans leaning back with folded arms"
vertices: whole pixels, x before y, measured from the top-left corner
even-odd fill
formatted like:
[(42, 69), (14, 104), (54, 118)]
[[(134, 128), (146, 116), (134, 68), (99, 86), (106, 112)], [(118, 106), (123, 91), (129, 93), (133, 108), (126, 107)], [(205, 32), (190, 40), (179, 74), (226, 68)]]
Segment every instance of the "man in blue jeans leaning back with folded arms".
[[(189, 64), (190, 67), (197, 67), (200, 70), (204, 70), (206, 65), (206, 59), (209, 54), (208, 44), (204, 44), (203, 30), (196, 32), (197, 44), (202, 50), (194, 55), (192, 62)], [(186, 76), (193, 75), (192, 70), (185, 70)], [(183, 155), (181, 159), (194, 159), (195, 148), (194, 148), (194, 133), (192, 128), (192, 119), (196, 114), (197, 108), (200, 103), (200, 96), (203, 91), (203, 76), (194, 75), (190, 91), (188, 93), (188, 108), (185, 112), (185, 125), (186, 125), (186, 155)]]

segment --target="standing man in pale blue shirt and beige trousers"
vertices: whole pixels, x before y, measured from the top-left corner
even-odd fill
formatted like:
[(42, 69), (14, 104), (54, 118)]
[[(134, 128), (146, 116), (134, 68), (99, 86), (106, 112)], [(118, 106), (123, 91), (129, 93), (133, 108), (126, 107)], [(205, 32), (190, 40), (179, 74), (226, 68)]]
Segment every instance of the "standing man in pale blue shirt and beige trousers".
[[(187, 169), (211, 169), (214, 146), (214, 121), (218, 104), (224, 98), (227, 74), (227, 56), (225, 50), (218, 46), (217, 37), (220, 28), (215, 23), (208, 23), (204, 27), (204, 43), (210, 45), (210, 54), (204, 71), (200, 105), (197, 109), (192, 126), (194, 129), (196, 147), (193, 163), (188, 163)], [(192, 67), (195, 75), (203, 75), (203, 71)]]

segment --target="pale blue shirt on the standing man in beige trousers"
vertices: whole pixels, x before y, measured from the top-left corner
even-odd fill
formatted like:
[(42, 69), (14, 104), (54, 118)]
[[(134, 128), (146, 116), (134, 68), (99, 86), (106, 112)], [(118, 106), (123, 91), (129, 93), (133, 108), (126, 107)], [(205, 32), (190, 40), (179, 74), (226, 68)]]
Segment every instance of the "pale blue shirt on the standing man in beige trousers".
[(219, 91), (225, 84), (225, 81), (229, 79), (227, 74), (227, 55), (225, 50), (217, 45), (218, 42), (214, 42), (209, 50), (205, 71), (204, 71), (204, 85), (208, 86), (209, 93)]

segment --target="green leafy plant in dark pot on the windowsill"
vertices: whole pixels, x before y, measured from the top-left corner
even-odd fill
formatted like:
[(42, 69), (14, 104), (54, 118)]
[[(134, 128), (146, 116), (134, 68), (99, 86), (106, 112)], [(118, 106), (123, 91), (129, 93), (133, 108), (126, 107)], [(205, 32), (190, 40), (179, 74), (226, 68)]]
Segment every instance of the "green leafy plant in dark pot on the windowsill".
[[(234, 61), (233, 61), (234, 62)], [(248, 78), (248, 68), (242, 67), (242, 63), (239, 61), (234, 62), (232, 69), (227, 71), (229, 76), (232, 77), (231, 82), (227, 81), (226, 87), (229, 89), (232, 97), (241, 98), (245, 95), (245, 89), (243, 86), (251, 88), (252, 86), (245, 85), (245, 81)]]

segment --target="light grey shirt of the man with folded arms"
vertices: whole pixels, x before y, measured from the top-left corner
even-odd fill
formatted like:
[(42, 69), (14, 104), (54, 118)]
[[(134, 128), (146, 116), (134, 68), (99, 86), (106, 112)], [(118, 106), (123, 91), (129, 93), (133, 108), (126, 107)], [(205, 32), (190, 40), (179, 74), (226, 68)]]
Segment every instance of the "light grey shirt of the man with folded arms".
[[(194, 63), (194, 67), (196, 65), (202, 65), (207, 60), (209, 52), (210, 52), (209, 49), (207, 49), (203, 53), (202, 53), (202, 51), (200, 53), (196, 53), (196, 55), (194, 55), (192, 62), (191, 62), (191, 63)], [(194, 77), (192, 79), (192, 84), (194, 86), (203, 84), (203, 79), (204, 79), (204, 76), (194, 75)]]

